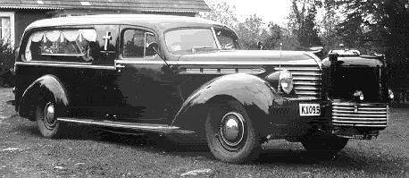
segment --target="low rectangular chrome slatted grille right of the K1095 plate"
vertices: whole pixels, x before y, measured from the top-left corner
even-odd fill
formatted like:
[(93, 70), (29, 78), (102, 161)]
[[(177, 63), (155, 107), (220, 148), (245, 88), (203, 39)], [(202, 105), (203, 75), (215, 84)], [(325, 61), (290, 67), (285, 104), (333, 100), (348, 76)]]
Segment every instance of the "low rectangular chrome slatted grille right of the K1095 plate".
[(332, 124), (335, 126), (386, 127), (388, 105), (333, 103)]

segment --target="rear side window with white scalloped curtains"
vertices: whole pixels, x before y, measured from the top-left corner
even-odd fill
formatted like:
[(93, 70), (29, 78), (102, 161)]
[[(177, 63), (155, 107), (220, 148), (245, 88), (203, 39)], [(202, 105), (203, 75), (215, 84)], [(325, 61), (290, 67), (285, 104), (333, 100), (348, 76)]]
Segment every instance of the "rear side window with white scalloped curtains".
[(26, 61), (91, 62), (96, 50), (96, 30), (40, 30), (29, 36)]

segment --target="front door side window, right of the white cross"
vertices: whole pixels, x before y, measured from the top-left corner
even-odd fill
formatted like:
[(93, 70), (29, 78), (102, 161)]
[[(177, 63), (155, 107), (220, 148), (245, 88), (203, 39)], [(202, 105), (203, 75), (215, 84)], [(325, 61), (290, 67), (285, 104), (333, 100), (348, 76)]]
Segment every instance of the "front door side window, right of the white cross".
[(156, 43), (156, 38), (151, 32), (146, 30), (125, 30), (122, 33), (122, 57), (150, 57), (156, 53), (150, 44)]

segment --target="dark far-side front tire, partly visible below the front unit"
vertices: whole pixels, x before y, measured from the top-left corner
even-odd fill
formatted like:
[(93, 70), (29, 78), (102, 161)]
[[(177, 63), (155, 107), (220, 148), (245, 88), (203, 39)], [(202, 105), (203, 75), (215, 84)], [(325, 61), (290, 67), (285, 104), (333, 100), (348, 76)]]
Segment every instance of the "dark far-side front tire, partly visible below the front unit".
[(348, 139), (337, 136), (309, 136), (302, 140), (304, 148), (308, 151), (336, 154), (346, 146)]

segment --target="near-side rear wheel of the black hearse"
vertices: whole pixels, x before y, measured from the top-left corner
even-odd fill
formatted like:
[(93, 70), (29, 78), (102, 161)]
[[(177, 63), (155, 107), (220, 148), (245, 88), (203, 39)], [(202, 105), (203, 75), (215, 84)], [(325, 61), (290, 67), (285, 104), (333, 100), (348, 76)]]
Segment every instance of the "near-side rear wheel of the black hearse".
[(55, 138), (61, 133), (60, 122), (55, 115), (55, 103), (51, 99), (38, 102), (36, 120), (43, 137)]

